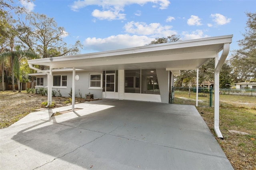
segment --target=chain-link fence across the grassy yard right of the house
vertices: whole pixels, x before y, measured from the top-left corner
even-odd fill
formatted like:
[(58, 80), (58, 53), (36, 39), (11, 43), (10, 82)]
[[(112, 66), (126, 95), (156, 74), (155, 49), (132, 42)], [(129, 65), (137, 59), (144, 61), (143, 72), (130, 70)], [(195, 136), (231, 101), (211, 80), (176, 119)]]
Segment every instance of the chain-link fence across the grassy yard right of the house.
[[(196, 88), (173, 87), (171, 103), (196, 105)], [(214, 107), (214, 89), (198, 88), (198, 106)], [(256, 89), (220, 89), (220, 107), (256, 109)]]

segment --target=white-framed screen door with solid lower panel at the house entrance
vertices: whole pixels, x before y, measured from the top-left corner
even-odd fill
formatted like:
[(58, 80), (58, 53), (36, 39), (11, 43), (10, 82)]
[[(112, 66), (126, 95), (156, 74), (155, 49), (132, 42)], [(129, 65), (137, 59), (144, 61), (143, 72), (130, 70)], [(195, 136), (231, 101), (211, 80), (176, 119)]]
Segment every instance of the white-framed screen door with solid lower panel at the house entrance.
[(108, 99), (115, 98), (115, 84), (116, 84), (115, 80), (116, 80), (115, 73), (106, 74), (105, 92), (106, 92), (106, 98)]

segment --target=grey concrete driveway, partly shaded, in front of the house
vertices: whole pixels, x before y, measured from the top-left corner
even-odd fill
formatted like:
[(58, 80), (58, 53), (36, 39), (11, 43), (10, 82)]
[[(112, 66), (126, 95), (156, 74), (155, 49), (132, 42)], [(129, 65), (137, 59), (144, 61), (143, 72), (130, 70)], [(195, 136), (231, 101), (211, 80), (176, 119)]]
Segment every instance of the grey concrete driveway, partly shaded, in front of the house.
[(100, 100), (0, 130), (1, 170), (233, 169), (194, 106)]

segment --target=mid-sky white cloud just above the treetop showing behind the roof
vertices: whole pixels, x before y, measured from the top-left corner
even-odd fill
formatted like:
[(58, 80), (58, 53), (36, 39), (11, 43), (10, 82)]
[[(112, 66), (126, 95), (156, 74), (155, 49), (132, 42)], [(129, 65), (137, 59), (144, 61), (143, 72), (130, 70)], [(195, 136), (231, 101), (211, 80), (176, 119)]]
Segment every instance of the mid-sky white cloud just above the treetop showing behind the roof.
[(144, 22), (128, 22), (125, 24), (124, 29), (127, 33), (150, 36), (154, 38), (167, 37), (172, 34), (177, 34), (175, 31), (170, 30), (172, 26), (162, 26), (160, 23), (146, 24)]

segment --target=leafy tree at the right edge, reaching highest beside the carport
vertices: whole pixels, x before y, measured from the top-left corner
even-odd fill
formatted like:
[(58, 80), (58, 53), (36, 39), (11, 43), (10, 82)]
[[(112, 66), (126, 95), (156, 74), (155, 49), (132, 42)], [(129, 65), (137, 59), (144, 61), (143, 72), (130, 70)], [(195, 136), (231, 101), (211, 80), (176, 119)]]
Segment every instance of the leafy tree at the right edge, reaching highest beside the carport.
[(235, 50), (230, 59), (236, 83), (256, 78), (256, 13), (246, 13), (244, 39), (238, 41), (240, 49)]

